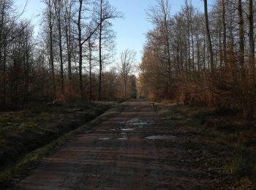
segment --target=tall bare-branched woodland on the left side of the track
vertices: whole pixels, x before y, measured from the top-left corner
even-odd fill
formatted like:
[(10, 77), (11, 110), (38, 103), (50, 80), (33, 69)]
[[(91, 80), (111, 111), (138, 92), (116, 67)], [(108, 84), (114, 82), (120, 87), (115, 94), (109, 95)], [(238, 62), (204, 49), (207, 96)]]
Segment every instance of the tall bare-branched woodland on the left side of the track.
[(31, 102), (136, 96), (135, 53), (127, 49), (113, 60), (111, 20), (122, 13), (107, 0), (42, 2), (36, 34), (15, 0), (0, 1), (1, 110)]

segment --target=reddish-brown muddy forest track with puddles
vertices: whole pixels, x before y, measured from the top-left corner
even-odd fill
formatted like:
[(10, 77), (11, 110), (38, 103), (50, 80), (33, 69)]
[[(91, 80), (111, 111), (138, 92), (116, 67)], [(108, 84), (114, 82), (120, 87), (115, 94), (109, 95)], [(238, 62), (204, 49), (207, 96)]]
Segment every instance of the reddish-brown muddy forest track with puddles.
[(150, 102), (128, 102), (45, 159), (18, 189), (211, 189), (217, 177), (204, 165), (211, 160), (197, 158), (202, 150), (190, 147), (179, 122), (166, 121)]

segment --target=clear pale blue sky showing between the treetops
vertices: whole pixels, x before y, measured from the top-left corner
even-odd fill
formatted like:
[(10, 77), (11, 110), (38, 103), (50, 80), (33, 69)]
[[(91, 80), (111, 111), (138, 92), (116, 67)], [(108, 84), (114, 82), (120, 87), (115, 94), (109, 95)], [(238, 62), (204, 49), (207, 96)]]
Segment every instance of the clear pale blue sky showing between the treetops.
[[(39, 17), (37, 16), (43, 8), (41, 0), (16, 0), (16, 4), (20, 10), (26, 4), (23, 14), (24, 18), (32, 21), (34, 26), (38, 28)], [(113, 20), (113, 29), (116, 31), (116, 58), (122, 51), (129, 48), (136, 51), (136, 61), (140, 62), (143, 51), (143, 45), (146, 41), (146, 33), (153, 26), (148, 22), (146, 17), (146, 9), (154, 6), (155, 0), (109, 0), (110, 4), (119, 12), (124, 13), (124, 18)], [(169, 0), (171, 5), (171, 14), (175, 15), (184, 4), (184, 0)], [(192, 4), (203, 12), (203, 0), (191, 0)], [(211, 1), (209, 1), (211, 6)]]

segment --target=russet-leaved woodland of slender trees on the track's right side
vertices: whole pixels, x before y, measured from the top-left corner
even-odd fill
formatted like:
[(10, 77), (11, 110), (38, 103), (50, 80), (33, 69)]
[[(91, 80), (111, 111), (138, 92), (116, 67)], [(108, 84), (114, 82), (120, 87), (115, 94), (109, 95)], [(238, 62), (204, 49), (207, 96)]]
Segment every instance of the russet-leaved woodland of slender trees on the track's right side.
[(140, 64), (140, 96), (256, 114), (255, 1), (204, 0), (204, 12), (184, 1), (148, 9)]

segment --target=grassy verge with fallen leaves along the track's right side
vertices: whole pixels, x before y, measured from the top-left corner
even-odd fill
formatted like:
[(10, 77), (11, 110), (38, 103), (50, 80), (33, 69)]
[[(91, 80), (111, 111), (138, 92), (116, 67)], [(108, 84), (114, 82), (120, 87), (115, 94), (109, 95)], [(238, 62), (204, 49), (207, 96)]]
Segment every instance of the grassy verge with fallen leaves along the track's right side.
[(225, 147), (228, 156), (215, 153), (223, 162), (222, 185), (226, 188), (256, 188), (255, 120), (248, 121), (238, 113), (217, 108), (159, 104), (157, 110), (166, 118), (179, 121), (180, 129), (191, 137), (203, 137), (206, 142), (216, 145), (216, 150), (219, 146)]

